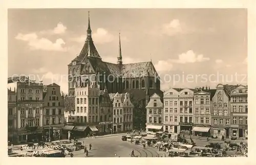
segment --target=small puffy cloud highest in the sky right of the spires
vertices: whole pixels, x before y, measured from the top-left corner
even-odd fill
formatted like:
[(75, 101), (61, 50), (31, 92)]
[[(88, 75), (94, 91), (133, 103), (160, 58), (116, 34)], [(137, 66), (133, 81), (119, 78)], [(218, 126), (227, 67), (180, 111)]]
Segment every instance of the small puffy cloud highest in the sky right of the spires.
[(173, 19), (169, 23), (166, 23), (162, 27), (163, 34), (166, 34), (168, 36), (173, 36), (175, 34), (182, 32), (181, 24), (179, 19)]

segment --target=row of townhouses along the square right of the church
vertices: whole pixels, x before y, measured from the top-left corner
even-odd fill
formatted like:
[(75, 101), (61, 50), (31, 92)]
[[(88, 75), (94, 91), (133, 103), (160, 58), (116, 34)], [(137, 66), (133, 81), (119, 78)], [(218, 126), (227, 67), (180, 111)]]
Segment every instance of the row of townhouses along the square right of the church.
[(148, 133), (225, 137), (248, 136), (247, 86), (217, 85), (216, 89), (170, 88), (163, 102), (154, 94), (147, 106)]

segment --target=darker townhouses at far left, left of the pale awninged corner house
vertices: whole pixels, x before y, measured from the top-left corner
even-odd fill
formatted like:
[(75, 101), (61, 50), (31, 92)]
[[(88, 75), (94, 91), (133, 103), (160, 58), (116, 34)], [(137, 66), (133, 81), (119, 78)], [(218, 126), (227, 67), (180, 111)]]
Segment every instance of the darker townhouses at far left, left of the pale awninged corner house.
[(32, 81), (8, 89), (8, 140), (13, 143), (61, 138), (64, 102), (60, 86)]

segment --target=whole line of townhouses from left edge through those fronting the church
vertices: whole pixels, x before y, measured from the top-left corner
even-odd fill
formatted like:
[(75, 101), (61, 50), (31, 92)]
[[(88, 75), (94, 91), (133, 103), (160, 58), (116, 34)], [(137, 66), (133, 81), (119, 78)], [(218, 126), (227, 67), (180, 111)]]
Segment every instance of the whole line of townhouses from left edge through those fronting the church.
[(95, 83), (64, 97), (55, 83), (17, 82), (16, 89), (8, 89), (8, 140), (25, 143), (130, 131), (133, 107), (129, 93), (108, 93)]

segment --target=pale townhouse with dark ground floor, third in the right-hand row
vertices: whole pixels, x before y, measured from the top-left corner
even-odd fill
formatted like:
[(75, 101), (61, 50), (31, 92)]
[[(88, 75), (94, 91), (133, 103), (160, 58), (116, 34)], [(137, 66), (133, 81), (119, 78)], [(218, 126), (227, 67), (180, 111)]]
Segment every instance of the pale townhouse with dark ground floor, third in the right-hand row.
[(191, 134), (194, 123), (194, 92), (196, 89), (185, 88), (179, 91), (179, 133)]

